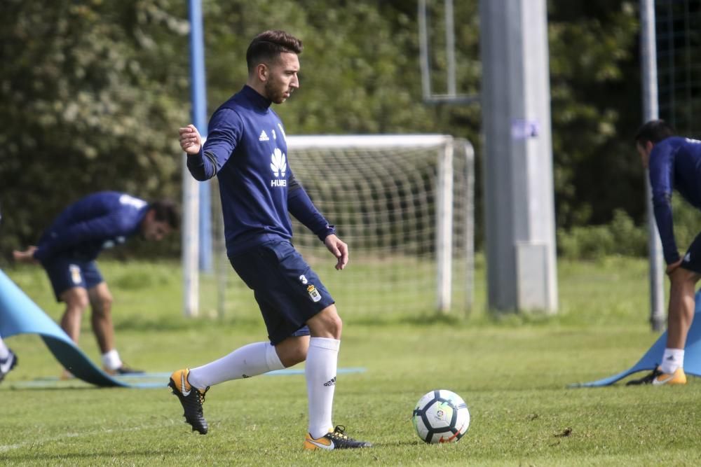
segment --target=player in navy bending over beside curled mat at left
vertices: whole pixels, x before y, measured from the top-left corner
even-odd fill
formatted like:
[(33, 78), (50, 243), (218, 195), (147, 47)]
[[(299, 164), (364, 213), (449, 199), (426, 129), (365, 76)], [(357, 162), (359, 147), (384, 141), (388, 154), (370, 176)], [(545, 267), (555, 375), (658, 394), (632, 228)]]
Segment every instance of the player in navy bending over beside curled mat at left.
[[(88, 304), (90, 323), (110, 374), (137, 372), (123, 364), (114, 345), (112, 296), (95, 260), (104, 248), (140, 234), (161, 240), (179, 226), (179, 212), (168, 200), (148, 203), (125, 193), (103, 191), (65, 208), (43, 232), (39, 244), (15, 251), (15, 260), (39, 262), (46, 270), (56, 300), (66, 303), (61, 328), (78, 343), (81, 318)], [(70, 368), (67, 368), (69, 371)], [(64, 377), (70, 377), (64, 372)]]

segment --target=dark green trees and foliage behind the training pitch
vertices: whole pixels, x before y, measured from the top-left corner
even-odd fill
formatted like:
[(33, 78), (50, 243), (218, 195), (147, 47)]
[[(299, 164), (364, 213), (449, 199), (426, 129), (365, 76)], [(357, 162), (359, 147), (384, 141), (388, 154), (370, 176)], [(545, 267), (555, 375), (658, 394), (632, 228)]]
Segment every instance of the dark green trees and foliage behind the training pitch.
[[(479, 92), (477, 3), (455, 3), (465, 93)], [(442, 2), (429, 4), (441, 18)], [(644, 179), (631, 144), (641, 122), (637, 4), (548, 1), (557, 225), (569, 245), (561, 253), (585, 251), (572, 246), (588, 237), (581, 232), (624, 218), (644, 236)], [(62, 207), (95, 190), (179, 199), (176, 132), (190, 121), (186, 2), (6, 0), (3, 8), (0, 249), (36, 242)], [(439, 132), (470, 139), (479, 158), (479, 105), (422, 102), (415, 2), (203, 0), (203, 13), (209, 112), (243, 85), (250, 39), (286, 29), (305, 44), (301, 89), (276, 108), (288, 133)], [(442, 92), (440, 31), (433, 40), (432, 84)], [(150, 251), (178, 249), (173, 239)]]

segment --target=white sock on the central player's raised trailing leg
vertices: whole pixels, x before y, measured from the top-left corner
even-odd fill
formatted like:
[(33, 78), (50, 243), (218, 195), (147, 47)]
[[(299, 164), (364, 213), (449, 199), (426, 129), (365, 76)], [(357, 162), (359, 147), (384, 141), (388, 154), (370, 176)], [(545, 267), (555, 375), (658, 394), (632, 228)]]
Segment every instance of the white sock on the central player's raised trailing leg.
[(283, 368), (285, 366), (270, 342), (254, 342), (239, 347), (219, 360), (191, 369), (187, 380), (204, 391), (208, 386), (230, 379), (248, 378)]

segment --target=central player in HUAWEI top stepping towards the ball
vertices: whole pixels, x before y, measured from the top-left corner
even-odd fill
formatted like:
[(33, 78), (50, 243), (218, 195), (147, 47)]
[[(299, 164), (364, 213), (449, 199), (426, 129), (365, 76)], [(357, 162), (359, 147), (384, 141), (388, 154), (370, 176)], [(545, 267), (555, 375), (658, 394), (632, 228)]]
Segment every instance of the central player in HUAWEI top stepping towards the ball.
[(304, 449), (369, 447), (332, 424), (341, 318), (329, 291), (290, 243), (288, 212), (336, 256), (337, 270), (348, 263), (348, 246), (294, 179), (283, 123), (270, 109), (299, 88), (301, 49), (301, 41), (285, 32), (259, 34), (246, 53), (247, 83), (212, 115), (204, 147), (193, 125), (179, 130), (193, 177), (219, 177), (227, 256), (254, 291), (269, 342), (177, 370), (170, 386), (193, 431), (205, 434), (202, 403), (210, 386), (306, 361), (309, 426)]

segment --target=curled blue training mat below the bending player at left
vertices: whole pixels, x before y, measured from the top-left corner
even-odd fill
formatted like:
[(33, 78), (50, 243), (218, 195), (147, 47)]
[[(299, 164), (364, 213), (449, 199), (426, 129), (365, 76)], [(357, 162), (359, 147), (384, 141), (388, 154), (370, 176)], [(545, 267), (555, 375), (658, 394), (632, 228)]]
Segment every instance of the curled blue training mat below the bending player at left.
[(118, 381), (97, 368), (64, 330), (0, 270), (0, 335), (5, 338), (18, 334), (39, 334), (56, 360), (85, 382), (104, 387), (142, 387)]

